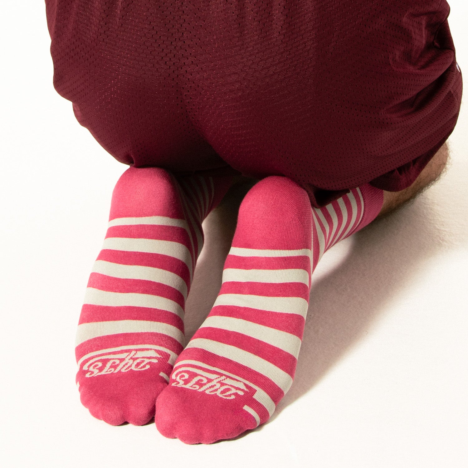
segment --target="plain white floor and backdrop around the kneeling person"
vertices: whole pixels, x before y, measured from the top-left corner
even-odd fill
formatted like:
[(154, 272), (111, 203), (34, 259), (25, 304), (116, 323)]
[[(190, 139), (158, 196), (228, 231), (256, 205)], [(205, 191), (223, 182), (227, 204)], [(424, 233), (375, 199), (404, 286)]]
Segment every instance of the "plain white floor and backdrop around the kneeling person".
[[(44, 2), (5, 3), (1, 466), (467, 467), (467, 105), (443, 179), (323, 257), (296, 379), (271, 421), (234, 441), (186, 446), (154, 424), (107, 425), (79, 402), (75, 327), (125, 166), (52, 87)], [(467, 71), (468, 7), (450, 4)], [(214, 301), (232, 235), (216, 216), (205, 223), (189, 335)]]

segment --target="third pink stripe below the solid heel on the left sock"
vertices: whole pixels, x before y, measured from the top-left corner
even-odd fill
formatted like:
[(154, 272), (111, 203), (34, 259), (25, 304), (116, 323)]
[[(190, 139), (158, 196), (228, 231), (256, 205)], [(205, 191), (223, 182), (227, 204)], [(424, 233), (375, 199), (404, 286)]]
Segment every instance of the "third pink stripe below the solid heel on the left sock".
[(146, 279), (114, 278), (93, 272), (89, 276), (88, 287), (100, 289), (101, 291), (154, 294), (155, 296), (173, 300), (182, 308), (185, 307), (185, 301), (181, 292), (171, 286)]

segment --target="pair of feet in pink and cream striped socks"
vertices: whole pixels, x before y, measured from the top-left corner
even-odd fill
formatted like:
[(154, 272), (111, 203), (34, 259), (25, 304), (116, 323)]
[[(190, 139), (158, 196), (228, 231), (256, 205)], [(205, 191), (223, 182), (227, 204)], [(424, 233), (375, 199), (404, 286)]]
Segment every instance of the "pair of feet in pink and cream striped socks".
[(202, 221), (232, 176), (175, 177), (129, 168), (117, 182), (109, 228), (78, 326), (81, 402), (109, 424), (146, 424), (209, 444), (266, 422), (292, 384), (311, 274), (322, 254), (377, 216), (370, 185), (318, 209), (285, 177), (242, 201), (222, 286), (184, 347), (183, 314)]

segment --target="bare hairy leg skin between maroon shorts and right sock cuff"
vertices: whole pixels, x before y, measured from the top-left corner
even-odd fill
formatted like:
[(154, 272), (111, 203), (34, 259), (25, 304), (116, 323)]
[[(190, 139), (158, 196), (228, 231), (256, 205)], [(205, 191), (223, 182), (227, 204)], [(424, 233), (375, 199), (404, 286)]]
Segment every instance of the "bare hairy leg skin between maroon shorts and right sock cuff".
[(421, 171), (417, 179), (406, 189), (398, 192), (388, 192), (384, 190), (383, 205), (376, 219), (386, 217), (393, 213), (395, 209), (413, 201), (417, 195), (422, 193), (437, 182), (445, 173), (447, 161), (449, 160), (449, 147), (444, 143), (439, 151), (434, 154), (431, 161)]

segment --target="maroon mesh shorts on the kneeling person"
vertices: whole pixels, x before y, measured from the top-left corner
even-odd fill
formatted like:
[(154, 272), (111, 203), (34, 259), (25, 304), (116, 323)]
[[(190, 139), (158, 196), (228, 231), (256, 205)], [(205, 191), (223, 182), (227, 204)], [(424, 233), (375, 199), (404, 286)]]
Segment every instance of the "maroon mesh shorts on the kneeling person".
[(314, 206), (408, 187), (456, 124), (445, 0), (45, 0), (53, 83), (118, 161), (234, 168)]

